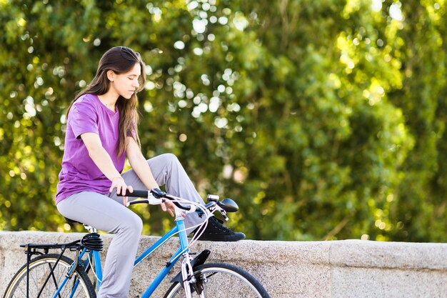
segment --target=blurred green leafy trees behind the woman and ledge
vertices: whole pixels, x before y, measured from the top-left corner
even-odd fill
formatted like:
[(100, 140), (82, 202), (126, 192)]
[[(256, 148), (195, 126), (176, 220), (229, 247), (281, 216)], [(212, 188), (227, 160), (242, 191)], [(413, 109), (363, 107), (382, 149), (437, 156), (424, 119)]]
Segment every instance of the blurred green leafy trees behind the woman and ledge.
[(76, 229), (54, 206), (64, 112), (124, 45), (148, 65), (144, 154), (236, 199), (229, 227), (447, 242), (446, 2), (0, 0), (0, 229)]

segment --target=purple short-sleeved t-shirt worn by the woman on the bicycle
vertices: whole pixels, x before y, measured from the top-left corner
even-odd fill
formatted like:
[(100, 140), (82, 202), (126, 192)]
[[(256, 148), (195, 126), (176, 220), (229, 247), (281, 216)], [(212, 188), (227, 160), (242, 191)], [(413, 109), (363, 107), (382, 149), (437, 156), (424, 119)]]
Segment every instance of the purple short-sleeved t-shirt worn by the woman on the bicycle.
[(107, 109), (94, 94), (84, 94), (71, 106), (66, 124), (64, 157), (57, 184), (56, 204), (71, 194), (97, 192), (107, 194), (111, 182), (89, 157), (81, 134), (99, 134), (118, 172), (124, 169), (126, 154), (118, 154), (119, 111)]

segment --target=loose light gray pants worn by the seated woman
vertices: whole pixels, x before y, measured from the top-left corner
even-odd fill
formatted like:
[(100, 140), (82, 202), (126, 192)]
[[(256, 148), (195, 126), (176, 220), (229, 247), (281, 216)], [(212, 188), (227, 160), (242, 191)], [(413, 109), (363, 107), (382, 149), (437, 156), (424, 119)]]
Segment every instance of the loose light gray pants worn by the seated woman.
[[(161, 154), (147, 162), (156, 182), (166, 186), (166, 192), (204, 204), (174, 154)], [(122, 174), (122, 177), (126, 184), (134, 189), (147, 189), (132, 169)], [(131, 199), (133, 198), (129, 197), (129, 200)], [(73, 194), (59, 202), (57, 209), (64, 217), (114, 234), (107, 252), (103, 280), (97, 296), (98, 298), (128, 297), (136, 250), (143, 228), (141, 218), (131, 209), (124, 207), (123, 198), (117, 197), (116, 191), (107, 196), (95, 192)], [(203, 220), (197, 214), (189, 214), (185, 219), (186, 228)]]

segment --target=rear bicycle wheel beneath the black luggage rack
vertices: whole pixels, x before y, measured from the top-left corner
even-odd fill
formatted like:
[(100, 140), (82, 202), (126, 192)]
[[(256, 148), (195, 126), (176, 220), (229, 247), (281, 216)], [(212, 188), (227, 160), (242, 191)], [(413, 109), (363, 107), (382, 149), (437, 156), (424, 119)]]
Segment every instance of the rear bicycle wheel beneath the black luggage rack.
[[(44, 254), (29, 262), (29, 297), (38, 297), (41, 287), (43, 286), (46, 277), (51, 272), (51, 267), (54, 266), (59, 254)], [(69, 257), (61, 256), (56, 268), (50, 277), (49, 281), (45, 284), (45, 288), (42, 289), (39, 298), (52, 298), (56, 292), (57, 287), (61, 284), (61, 281), (65, 278), (66, 273), (73, 264), (73, 260)], [(6, 287), (4, 298), (23, 298), (26, 297), (26, 264), (22, 266), (18, 272), (14, 275)], [(77, 282), (79, 281), (79, 282)], [(76, 286), (74, 295), (71, 296), (71, 290)], [(83, 267), (77, 267), (71, 279), (64, 285), (58, 297), (78, 297), (78, 298), (96, 298), (95, 289)]]

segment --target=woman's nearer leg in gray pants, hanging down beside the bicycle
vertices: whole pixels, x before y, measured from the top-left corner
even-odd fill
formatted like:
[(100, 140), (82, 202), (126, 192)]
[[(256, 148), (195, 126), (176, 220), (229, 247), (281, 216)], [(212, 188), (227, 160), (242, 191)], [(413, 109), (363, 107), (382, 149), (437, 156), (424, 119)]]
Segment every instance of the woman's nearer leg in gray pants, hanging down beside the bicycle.
[(114, 234), (107, 252), (98, 298), (129, 296), (129, 285), (139, 246), (141, 218), (113, 199), (95, 192), (73, 194), (57, 204), (69, 219)]

